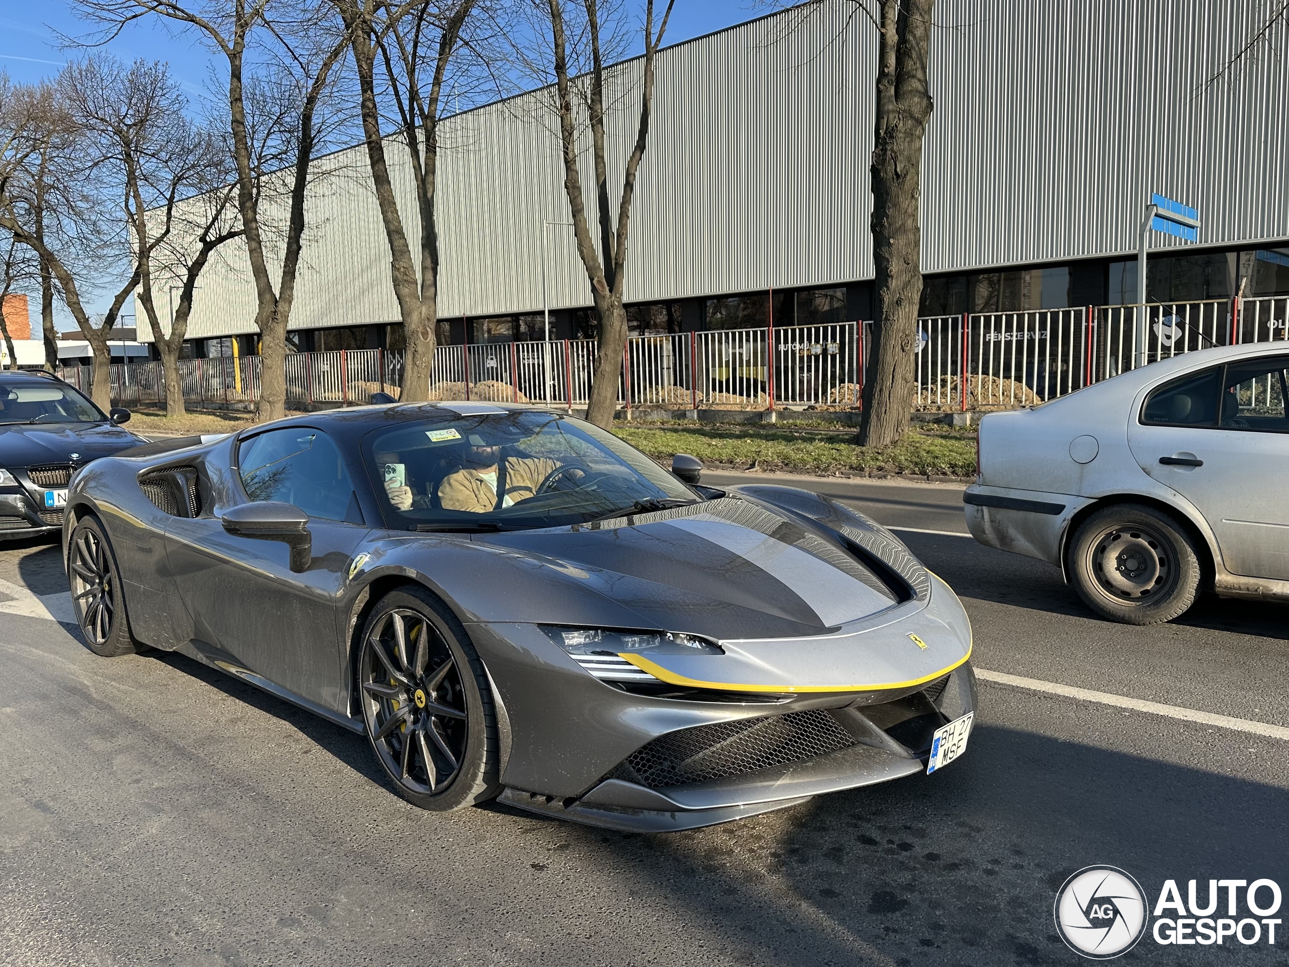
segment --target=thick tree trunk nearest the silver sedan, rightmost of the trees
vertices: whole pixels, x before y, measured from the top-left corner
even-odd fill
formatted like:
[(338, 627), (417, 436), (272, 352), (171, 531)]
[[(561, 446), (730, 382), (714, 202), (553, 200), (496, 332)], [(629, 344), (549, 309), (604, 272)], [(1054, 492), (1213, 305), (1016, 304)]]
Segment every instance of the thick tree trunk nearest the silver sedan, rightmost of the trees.
[(931, 120), (927, 58), (933, 0), (883, 0), (877, 80), (873, 266), (877, 347), (864, 382), (860, 444), (892, 446), (909, 429), (922, 300), (922, 141)]

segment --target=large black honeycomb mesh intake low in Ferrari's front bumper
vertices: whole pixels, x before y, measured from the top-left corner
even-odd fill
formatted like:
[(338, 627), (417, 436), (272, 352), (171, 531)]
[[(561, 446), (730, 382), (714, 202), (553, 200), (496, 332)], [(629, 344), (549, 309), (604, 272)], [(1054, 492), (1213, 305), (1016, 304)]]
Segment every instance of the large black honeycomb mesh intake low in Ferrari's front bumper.
[(855, 744), (828, 712), (790, 712), (669, 732), (632, 753), (614, 775), (661, 789), (788, 766)]

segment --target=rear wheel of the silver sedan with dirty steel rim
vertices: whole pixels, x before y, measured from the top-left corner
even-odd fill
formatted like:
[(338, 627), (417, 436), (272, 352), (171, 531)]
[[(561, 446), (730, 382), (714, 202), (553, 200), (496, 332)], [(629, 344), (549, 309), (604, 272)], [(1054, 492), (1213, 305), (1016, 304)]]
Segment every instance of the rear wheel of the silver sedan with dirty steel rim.
[(1070, 545), (1075, 591), (1093, 611), (1127, 624), (1159, 624), (1182, 615), (1200, 585), (1200, 562), (1186, 531), (1143, 504), (1116, 504), (1092, 514)]

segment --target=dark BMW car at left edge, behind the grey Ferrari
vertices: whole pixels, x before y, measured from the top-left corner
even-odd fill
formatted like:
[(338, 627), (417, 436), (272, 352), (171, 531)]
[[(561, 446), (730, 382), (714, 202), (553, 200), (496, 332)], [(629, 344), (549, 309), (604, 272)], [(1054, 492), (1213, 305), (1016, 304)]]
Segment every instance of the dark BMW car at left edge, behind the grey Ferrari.
[(117, 425), (129, 418), (48, 374), (0, 373), (0, 539), (57, 532), (72, 473), (147, 442)]

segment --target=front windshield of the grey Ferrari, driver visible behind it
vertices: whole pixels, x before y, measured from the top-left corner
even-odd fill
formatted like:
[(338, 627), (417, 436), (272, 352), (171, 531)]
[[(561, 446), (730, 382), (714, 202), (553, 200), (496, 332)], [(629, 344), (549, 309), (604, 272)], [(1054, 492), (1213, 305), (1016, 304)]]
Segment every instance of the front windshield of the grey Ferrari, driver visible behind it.
[(696, 500), (612, 433), (550, 413), (445, 410), (369, 433), (363, 458), (400, 530), (549, 527)]

